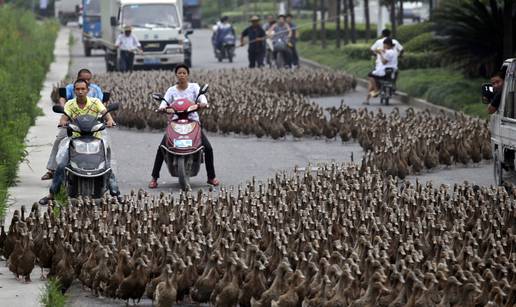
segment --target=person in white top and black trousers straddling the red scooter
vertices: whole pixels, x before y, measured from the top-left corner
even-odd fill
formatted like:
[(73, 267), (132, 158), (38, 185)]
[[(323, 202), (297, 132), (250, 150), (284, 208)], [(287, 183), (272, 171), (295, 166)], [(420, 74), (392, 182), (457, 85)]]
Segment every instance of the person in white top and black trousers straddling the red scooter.
[[(185, 64), (179, 64), (176, 66), (174, 70), (177, 78), (177, 84), (170, 87), (165, 93), (164, 99), (166, 101), (161, 102), (159, 109), (165, 110), (168, 104), (171, 104), (174, 100), (185, 98), (190, 101), (195, 101), (197, 95), (200, 90), (200, 86), (197, 83), (188, 82), (188, 76), (190, 75), (190, 69)], [(198, 109), (202, 110), (208, 107), (208, 100), (206, 96), (201, 95), (199, 97), (199, 106)], [(194, 120), (200, 122), (199, 114), (197, 112), (192, 112), (189, 115), (190, 120)], [(202, 145), (204, 146), (204, 157), (206, 162), (206, 173), (208, 174), (208, 184), (213, 186), (218, 186), (220, 181), (215, 176), (215, 166), (213, 164), (213, 148), (211, 147), (210, 141), (204, 134), (201, 133)], [(160, 146), (158, 146), (158, 151), (156, 152), (156, 158), (154, 159), (154, 167), (152, 169), (152, 179), (149, 183), (149, 188), (155, 189), (158, 187), (158, 178), (159, 172), (161, 170), (161, 166), (163, 165), (163, 151), (161, 149), (161, 145), (165, 145), (166, 138), (163, 137)]]

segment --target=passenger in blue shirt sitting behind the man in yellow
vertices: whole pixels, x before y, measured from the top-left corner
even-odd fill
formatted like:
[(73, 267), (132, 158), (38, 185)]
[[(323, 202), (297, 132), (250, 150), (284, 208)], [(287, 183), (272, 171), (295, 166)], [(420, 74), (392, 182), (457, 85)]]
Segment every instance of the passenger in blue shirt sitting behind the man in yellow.
[[(89, 69), (83, 68), (79, 70), (77, 73), (77, 79), (82, 79), (88, 82), (89, 92), (88, 97), (97, 98), (102, 101), (103, 94), (102, 89), (95, 83), (91, 83), (91, 78), (93, 77), (91, 71)], [(75, 97), (75, 90), (73, 83), (66, 85), (66, 97), (59, 97), (59, 104), (64, 107), (65, 103), (73, 99)], [(59, 143), (66, 137), (66, 129), (59, 129), (58, 134), (56, 135), (56, 139), (54, 141), (54, 145), (52, 146), (52, 151), (50, 152), (50, 157), (47, 162), (47, 172), (41, 177), (41, 180), (50, 180), (54, 176), (54, 172), (57, 168), (56, 155), (59, 150)]]

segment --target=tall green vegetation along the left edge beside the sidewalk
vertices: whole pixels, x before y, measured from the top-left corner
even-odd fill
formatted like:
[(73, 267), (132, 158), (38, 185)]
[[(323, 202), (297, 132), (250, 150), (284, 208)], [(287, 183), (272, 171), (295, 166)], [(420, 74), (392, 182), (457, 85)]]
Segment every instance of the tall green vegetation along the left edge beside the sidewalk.
[(36, 103), (58, 29), (54, 21), (37, 22), (28, 11), (0, 6), (0, 216), (25, 156), (25, 135), (41, 112)]

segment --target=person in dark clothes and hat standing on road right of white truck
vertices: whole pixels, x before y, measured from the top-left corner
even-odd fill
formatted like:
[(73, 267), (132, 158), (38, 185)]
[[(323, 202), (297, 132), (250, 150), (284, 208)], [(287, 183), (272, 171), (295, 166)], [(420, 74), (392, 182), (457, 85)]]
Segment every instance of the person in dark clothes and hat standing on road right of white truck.
[(251, 17), (251, 25), (247, 27), (240, 36), (240, 46), (244, 45), (244, 37), (249, 38), (249, 68), (262, 67), (265, 58), (265, 31), (260, 25), (258, 16)]

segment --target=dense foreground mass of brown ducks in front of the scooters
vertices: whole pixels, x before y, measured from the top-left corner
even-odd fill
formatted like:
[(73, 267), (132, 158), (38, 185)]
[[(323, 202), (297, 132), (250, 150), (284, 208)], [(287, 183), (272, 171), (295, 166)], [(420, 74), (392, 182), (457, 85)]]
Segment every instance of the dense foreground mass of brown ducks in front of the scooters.
[(156, 306), (515, 306), (514, 192), (323, 164), (218, 193), (35, 204), (0, 249), (20, 278), (37, 263), (63, 291), (78, 279)]

